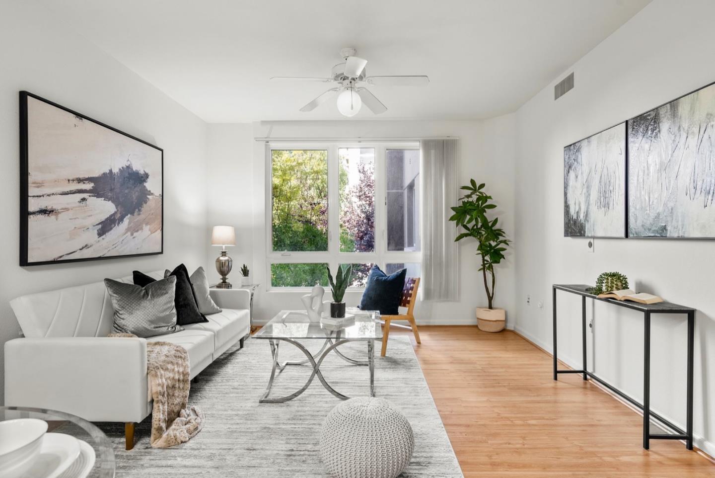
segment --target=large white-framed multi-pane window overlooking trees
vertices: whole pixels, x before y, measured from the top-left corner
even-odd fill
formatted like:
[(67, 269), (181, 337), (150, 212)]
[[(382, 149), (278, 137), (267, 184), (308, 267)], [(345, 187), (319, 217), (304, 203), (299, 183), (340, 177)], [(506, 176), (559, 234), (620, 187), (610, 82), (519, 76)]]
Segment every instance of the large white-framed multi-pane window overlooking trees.
[(375, 264), (419, 275), (418, 144), (281, 143), (266, 157), (270, 288), (327, 286), (326, 266), (340, 264), (352, 264), (350, 288)]

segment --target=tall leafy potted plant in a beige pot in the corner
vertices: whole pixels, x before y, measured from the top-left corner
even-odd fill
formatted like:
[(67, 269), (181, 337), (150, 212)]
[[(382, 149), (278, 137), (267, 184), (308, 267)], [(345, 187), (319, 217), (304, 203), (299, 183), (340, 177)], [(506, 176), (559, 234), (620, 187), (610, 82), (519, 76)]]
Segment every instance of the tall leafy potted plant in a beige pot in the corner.
[(487, 212), (496, 208), (492, 197), (484, 192), (485, 184), (477, 185), (475, 180), (460, 187), (467, 191), (459, 199), (459, 205), (452, 208), (454, 214), (449, 218), (455, 225), (464, 230), (457, 235), (455, 241), (473, 238), (477, 241), (477, 255), (480, 257), (479, 270), (484, 279), (484, 290), (487, 295), (487, 307), (476, 310), (477, 325), (483, 331), (498, 332), (506, 324), (506, 311), (503, 308), (493, 308), (496, 275), (494, 266), (504, 260), (504, 252), (510, 241), (502, 228), (498, 228), (499, 218), (489, 219)]

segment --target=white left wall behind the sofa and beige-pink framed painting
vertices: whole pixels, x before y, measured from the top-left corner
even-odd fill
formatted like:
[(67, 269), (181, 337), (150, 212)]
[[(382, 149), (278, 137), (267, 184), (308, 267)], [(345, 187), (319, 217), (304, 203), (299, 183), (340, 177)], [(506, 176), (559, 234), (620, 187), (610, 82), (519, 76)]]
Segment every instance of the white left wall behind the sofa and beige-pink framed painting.
[[(53, 288), (206, 260), (206, 127), (34, 1), (0, 14), (0, 346), (19, 336), (8, 301)], [(19, 107), (26, 89), (164, 149), (164, 254), (19, 267)], [(0, 354), (1, 357), (1, 354)], [(0, 401), (4, 396), (0, 358)]]

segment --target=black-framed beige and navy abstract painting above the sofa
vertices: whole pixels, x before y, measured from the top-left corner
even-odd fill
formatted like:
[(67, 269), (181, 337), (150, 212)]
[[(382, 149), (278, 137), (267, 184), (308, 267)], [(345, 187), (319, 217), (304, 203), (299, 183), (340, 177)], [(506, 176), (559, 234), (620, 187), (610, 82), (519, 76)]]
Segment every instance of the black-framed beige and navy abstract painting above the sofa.
[(163, 252), (164, 152), (20, 92), (20, 265)]

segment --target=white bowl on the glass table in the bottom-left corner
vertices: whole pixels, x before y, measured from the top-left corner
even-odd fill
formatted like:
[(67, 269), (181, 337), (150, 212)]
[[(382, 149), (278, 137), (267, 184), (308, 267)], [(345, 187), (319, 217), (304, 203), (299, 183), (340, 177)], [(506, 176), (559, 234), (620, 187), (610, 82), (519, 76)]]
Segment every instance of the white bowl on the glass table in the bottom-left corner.
[(13, 472), (29, 469), (39, 454), (46, 431), (47, 422), (44, 420), (0, 421), (0, 469), (13, 469)]

